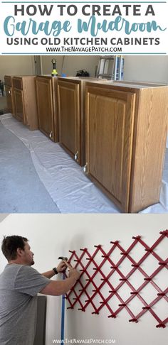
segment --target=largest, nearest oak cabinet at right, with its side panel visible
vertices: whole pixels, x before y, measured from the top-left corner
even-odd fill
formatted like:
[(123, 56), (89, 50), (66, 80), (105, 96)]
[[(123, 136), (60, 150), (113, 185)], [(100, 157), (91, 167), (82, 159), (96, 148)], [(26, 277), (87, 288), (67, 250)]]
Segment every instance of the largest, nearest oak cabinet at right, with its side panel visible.
[(85, 170), (122, 212), (159, 202), (168, 87), (86, 83)]

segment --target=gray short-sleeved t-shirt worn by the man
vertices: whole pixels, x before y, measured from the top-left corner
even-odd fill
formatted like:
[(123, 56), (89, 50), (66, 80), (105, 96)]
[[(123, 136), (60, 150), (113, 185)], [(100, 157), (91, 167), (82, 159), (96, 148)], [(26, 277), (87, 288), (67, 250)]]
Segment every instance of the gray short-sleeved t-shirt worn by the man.
[(29, 265), (6, 265), (0, 275), (1, 345), (33, 345), (37, 294), (49, 283)]

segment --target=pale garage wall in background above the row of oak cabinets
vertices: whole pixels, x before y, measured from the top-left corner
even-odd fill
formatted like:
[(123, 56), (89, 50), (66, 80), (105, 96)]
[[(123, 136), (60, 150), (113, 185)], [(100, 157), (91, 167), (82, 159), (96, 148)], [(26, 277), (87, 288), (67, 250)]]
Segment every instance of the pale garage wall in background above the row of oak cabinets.
[[(41, 56), (43, 74), (51, 75), (52, 58), (57, 60), (58, 74), (75, 76), (78, 70), (88, 70), (90, 77), (95, 76), (95, 69), (98, 66), (99, 56)], [(4, 75), (33, 75), (33, 56), (1, 56), (0, 57), (0, 79)], [(125, 55), (125, 80), (163, 82), (168, 83), (168, 56), (156, 55)]]

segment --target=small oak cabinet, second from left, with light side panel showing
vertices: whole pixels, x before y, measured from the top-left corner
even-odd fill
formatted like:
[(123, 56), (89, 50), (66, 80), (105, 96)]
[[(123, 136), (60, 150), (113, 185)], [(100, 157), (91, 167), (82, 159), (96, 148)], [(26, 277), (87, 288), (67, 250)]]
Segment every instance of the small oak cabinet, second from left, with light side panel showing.
[(38, 128), (35, 78), (28, 75), (13, 77), (14, 115), (31, 130)]

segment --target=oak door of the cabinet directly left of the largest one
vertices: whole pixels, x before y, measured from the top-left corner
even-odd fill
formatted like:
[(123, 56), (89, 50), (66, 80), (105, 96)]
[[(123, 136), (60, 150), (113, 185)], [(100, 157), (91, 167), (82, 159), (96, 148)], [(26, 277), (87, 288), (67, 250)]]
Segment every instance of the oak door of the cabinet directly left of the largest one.
[(59, 138), (80, 163), (80, 85), (58, 82)]

